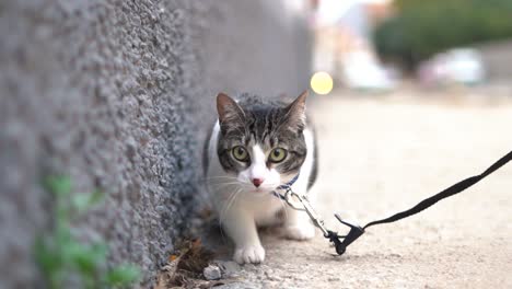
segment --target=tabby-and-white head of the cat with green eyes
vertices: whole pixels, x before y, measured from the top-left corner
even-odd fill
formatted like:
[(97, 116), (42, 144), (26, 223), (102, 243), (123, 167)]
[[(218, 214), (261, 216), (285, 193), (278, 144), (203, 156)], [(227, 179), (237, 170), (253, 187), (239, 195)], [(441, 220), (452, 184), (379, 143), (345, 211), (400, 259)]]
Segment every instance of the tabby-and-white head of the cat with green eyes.
[(268, 193), (299, 173), (306, 157), (302, 134), (306, 96), (305, 91), (288, 104), (255, 96), (240, 102), (223, 93), (217, 96), (217, 153), (224, 171), (233, 174), (244, 190)]

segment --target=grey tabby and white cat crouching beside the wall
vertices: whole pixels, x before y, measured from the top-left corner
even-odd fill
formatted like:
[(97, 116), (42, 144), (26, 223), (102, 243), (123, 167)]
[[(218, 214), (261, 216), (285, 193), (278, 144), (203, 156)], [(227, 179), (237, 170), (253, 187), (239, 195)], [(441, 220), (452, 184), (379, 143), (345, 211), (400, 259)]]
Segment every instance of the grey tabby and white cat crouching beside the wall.
[(306, 119), (306, 97), (307, 91), (286, 104), (247, 93), (237, 102), (224, 93), (217, 96), (219, 118), (205, 143), (206, 180), (222, 229), (235, 243), (233, 259), (238, 264), (264, 262), (257, 227), (275, 224), (278, 215), (284, 219), (287, 238), (315, 235), (304, 211), (271, 194), (293, 183), (293, 192), (314, 198), (309, 190), (316, 180), (316, 142)]

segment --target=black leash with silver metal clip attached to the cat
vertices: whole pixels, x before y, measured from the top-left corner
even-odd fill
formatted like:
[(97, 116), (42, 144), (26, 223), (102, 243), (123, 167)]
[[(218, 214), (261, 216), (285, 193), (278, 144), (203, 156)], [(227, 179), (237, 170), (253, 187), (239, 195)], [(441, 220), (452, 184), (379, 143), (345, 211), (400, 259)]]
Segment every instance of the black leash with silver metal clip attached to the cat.
[[(347, 246), (349, 246), (353, 241), (356, 241), (358, 238), (360, 238), (364, 233), (364, 230), (366, 228), (370, 228), (370, 227), (375, 226), (375, 224), (381, 224), (381, 223), (396, 222), (396, 221), (402, 220), (404, 218), (416, 215), (416, 213), (431, 207), (435, 203), (438, 203), (438, 201), (440, 201), (440, 200), (442, 200), (444, 198), (451, 197), (451, 196), (453, 196), (455, 194), (458, 194), (458, 193), (465, 190), (466, 188), (475, 185), (476, 183), (480, 182), (481, 180), (484, 180), (488, 175), (492, 174), (494, 171), (497, 171), (498, 169), (500, 169), (501, 166), (503, 166), (505, 163), (510, 162), (511, 160), (512, 160), (512, 151), (509, 152), (503, 158), (501, 158), (500, 160), (498, 160), (497, 162), (494, 162), (484, 173), (481, 173), (479, 175), (474, 175), (474, 176), (467, 177), (467, 178), (465, 178), (465, 180), (463, 180), (463, 181), (461, 181), (461, 182), (458, 182), (458, 183), (456, 183), (456, 184), (441, 190), (440, 193), (438, 193), (438, 194), (435, 194), (435, 195), (433, 195), (433, 196), (431, 196), (431, 197), (429, 197), (427, 199), (423, 199), (422, 201), (418, 203), (416, 206), (414, 206), (412, 208), (410, 208), (408, 210), (397, 212), (397, 213), (395, 213), (395, 215), (393, 215), (393, 216), (391, 216), (388, 218), (385, 218), (385, 219), (371, 221), (371, 222), (366, 223), (364, 227), (360, 227), (360, 226), (357, 226), (357, 224), (351, 224), (351, 223), (349, 223), (347, 221), (344, 221), (341, 219), (341, 217), (339, 217), (339, 215), (335, 213), (335, 217), (336, 217), (336, 219), (338, 219), (339, 222), (341, 222), (342, 224), (350, 228), (350, 231), (349, 231), (349, 233), (347, 235), (338, 235), (338, 233), (326, 229), (324, 227), (324, 221), (319, 218), (319, 216), (311, 207), (310, 201), (307, 200), (307, 197), (306, 196), (301, 196), (301, 195), (299, 195), (296, 193), (293, 193), (293, 190), (291, 189), (291, 185), (287, 184), (287, 185), (280, 186), (278, 188), (278, 189), (286, 189), (287, 190), (284, 196), (278, 194), (278, 193), (275, 193), (275, 195), (280, 197), (281, 199), (284, 199), (293, 208), (305, 210), (307, 212), (307, 215), (310, 216), (310, 218), (312, 219), (313, 223), (322, 230), (322, 232), (324, 233), (324, 236), (326, 239), (329, 239), (329, 241), (334, 243), (334, 245), (336, 247), (336, 253), (338, 253), (338, 255), (341, 255), (347, 250)], [(295, 178), (295, 181), (296, 181), (296, 178)], [(293, 204), (293, 201), (291, 199), (292, 197), (296, 198), (301, 203), (303, 208), (300, 208), (299, 206)]]

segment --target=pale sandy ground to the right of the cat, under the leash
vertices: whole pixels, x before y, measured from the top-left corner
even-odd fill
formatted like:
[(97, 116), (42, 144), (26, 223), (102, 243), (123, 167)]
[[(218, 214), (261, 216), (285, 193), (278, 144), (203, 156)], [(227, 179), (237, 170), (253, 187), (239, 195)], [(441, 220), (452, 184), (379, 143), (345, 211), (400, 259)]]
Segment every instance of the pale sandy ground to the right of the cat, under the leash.
[[(420, 95), (417, 95), (420, 94)], [(337, 92), (310, 102), (317, 209), (360, 224), (482, 172), (512, 149), (512, 101), (468, 91)], [(412, 218), (369, 229), (342, 256), (261, 232), (267, 259), (220, 288), (512, 288), (512, 163)]]

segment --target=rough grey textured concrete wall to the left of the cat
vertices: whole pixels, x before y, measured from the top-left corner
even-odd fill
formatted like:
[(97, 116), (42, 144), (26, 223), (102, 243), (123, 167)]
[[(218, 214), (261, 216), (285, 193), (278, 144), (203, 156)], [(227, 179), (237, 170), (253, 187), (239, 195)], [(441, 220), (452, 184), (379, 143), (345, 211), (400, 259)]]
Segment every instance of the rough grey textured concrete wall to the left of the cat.
[(48, 173), (107, 201), (80, 220), (151, 281), (186, 228), (214, 95), (296, 94), (309, 33), (278, 1), (0, 2), (0, 288), (34, 288)]

